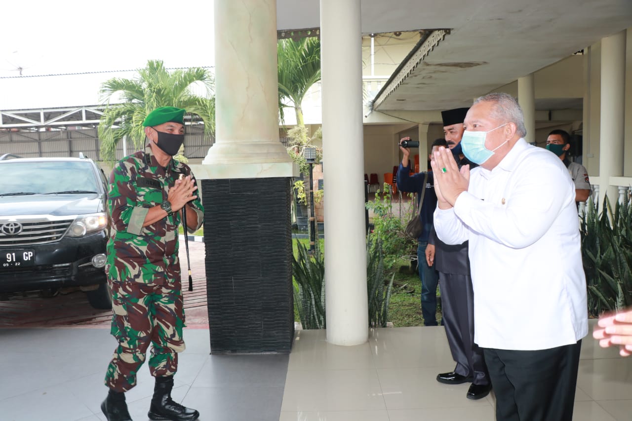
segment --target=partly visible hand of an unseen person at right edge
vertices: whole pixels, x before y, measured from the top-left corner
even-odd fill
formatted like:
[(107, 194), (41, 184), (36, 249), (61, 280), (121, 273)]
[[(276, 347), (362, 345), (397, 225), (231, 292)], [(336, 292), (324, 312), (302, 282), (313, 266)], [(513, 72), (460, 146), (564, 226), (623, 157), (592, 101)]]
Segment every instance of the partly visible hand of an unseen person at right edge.
[(619, 346), (621, 357), (632, 355), (632, 308), (599, 317), (593, 338), (602, 348)]

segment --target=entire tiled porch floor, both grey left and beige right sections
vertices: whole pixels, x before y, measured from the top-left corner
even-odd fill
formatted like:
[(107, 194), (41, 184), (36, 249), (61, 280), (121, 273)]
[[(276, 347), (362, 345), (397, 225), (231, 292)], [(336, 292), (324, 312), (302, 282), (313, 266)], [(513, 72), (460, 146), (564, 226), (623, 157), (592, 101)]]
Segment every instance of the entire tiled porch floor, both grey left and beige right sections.
[[(591, 320), (590, 333), (595, 320)], [(200, 421), (493, 421), (494, 392), (435, 380), (454, 362), (443, 327), (370, 329), (367, 343), (336, 346), (325, 331), (296, 331), (290, 355), (209, 355), (209, 331), (185, 330), (174, 400)], [(0, 420), (105, 421), (103, 378), (116, 346), (108, 329), (0, 329)], [(582, 343), (574, 421), (632, 420), (632, 357)], [(146, 420), (147, 365), (126, 393)]]

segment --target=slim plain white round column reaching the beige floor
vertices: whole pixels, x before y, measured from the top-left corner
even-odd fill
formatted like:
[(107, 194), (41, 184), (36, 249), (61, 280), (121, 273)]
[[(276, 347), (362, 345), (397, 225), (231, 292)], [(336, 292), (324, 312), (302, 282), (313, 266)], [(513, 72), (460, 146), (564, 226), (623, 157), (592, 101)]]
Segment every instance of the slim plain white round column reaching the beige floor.
[(360, 345), (368, 339), (360, 0), (320, 0), (320, 42), (327, 341)]

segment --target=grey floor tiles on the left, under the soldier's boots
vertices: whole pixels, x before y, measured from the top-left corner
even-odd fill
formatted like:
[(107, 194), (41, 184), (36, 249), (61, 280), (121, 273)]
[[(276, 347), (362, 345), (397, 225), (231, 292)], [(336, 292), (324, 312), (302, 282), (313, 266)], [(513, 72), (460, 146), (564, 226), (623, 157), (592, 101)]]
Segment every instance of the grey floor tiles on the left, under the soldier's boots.
[[(173, 399), (200, 421), (277, 421), (288, 355), (209, 355), (209, 331), (185, 329)], [(100, 403), (116, 347), (109, 329), (0, 329), (1, 421), (105, 421)], [(154, 379), (147, 364), (126, 393), (130, 415), (147, 420)]]

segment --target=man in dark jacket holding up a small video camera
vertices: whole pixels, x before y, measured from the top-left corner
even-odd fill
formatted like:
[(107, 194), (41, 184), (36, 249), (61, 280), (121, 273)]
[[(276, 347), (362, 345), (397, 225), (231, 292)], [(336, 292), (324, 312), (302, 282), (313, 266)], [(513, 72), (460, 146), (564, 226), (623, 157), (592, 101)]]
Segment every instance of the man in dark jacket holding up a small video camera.
[[(420, 219), (422, 221), (423, 231), (417, 238), (417, 267), (419, 269), (419, 278), (422, 281), (422, 315), (423, 324), (425, 326), (437, 326), (437, 283), (439, 275), (432, 262), (426, 260), (426, 247), (428, 245), (428, 236), (432, 229), (432, 215), (437, 207), (437, 195), (434, 192), (434, 178), (432, 171), (416, 173), (410, 175), (410, 148), (401, 146), (403, 140), (410, 140), (410, 137), (404, 137), (400, 142), (399, 149), (403, 157), (399, 164), (397, 172), (397, 188), (402, 192), (415, 193), (417, 195), (417, 205), (421, 206)], [(445, 139), (437, 139), (432, 142), (432, 152), (439, 149), (439, 146), (447, 147)], [(421, 197), (423, 192), (423, 180), (426, 180), (425, 193), (423, 193), (423, 203)], [(433, 246), (434, 247), (434, 246)]]

